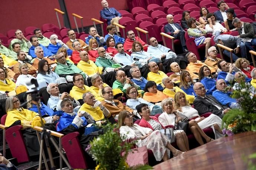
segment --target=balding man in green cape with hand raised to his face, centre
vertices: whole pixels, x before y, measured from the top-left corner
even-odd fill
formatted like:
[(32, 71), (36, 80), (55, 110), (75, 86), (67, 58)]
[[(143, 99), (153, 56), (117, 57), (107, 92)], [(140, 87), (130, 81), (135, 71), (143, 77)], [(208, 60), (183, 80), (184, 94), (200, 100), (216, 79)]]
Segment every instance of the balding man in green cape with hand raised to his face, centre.
[(121, 89), (122, 92), (126, 93), (126, 89), (130, 86), (134, 86), (137, 90), (140, 89), (140, 86), (131, 81), (131, 78), (125, 76), (125, 72), (122, 70), (116, 71), (116, 81), (114, 82), (113, 89)]

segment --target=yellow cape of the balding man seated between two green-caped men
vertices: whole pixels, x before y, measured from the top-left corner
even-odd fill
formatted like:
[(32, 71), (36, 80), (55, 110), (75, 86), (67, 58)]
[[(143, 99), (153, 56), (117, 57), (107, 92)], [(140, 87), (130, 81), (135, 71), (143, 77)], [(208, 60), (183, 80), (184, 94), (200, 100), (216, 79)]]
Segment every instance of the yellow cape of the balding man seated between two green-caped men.
[(77, 64), (77, 67), (80, 68), (87, 75), (89, 75), (89, 77), (97, 74), (97, 72), (99, 72), (99, 74), (102, 74), (103, 67), (97, 67), (96, 64), (91, 60), (89, 60), (88, 62), (80, 60)]

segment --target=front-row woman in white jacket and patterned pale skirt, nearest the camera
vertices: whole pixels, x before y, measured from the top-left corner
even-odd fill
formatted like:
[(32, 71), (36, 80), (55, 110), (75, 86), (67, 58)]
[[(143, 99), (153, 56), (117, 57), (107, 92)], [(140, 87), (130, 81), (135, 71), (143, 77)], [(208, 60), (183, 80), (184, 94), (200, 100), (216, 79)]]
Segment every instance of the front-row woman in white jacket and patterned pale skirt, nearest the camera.
[(182, 154), (180, 150), (175, 149), (168, 138), (159, 130), (153, 131), (150, 128), (143, 128), (137, 124), (133, 124), (132, 114), (128, 111), (122, 111), (118, 116), (118, 126), (122, 140), (135, 139), (138, 147), (147, 146), (152, 150), (157, 161), (167, 161), (167, 149), (173, 153), (173, 156)]

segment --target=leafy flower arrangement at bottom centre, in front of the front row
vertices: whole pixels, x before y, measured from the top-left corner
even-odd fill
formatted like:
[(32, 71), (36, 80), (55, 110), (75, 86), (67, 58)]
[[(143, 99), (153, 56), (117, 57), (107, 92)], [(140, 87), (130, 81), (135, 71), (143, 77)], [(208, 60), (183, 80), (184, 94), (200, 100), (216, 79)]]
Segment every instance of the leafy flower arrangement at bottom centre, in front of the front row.
[[(86, 148), (93, 159), (96, 160), (97, 166), (95, 170), (146, 170), (152, 167), (135, 166), (129, 167), (126, 163), (126, 158), (132, 143), (123, 142), (119, 136), (119, 129), (116, 125), (108, 123), (104, 126), (104, 134), (98, 138), (93, 139), (90, 145)], [(124, 157), (121, 153), (125, 152)]]

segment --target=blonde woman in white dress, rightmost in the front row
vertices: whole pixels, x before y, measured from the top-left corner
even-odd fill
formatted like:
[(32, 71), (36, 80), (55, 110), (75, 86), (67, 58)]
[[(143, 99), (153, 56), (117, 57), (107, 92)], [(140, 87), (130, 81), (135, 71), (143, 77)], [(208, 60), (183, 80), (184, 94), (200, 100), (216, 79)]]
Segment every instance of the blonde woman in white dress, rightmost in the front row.
[(222, 120), (219, 116), (211, 114), (207, 118), (199, 116), (196, 109), (192, 108), (186, 99), (183, 92), (177, 92), (174, 96), (174, 109), (183, 112), (183, 114), (189, 118), (196, 120), (198, 126), (201, 129), (211, 128), (215, 134), (215, 139), (223, 137), (222, 131), (220, 129)]

